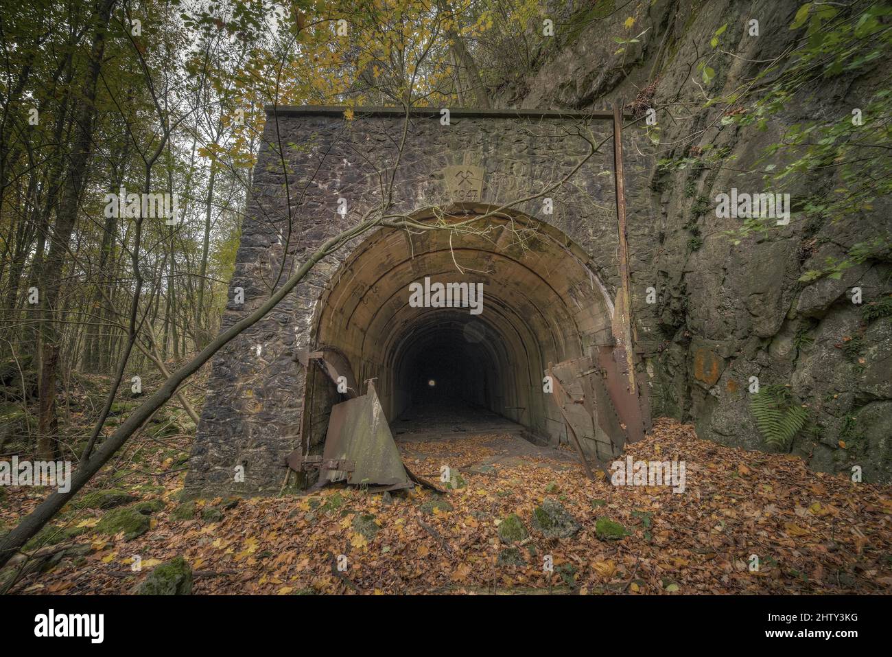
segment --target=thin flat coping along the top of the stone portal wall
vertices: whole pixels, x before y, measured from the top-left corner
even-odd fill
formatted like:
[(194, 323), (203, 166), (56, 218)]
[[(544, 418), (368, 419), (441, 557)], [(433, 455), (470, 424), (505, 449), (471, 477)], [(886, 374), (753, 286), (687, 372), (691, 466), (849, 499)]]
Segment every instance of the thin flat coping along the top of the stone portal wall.
[[(279, 116), (340, 116), (351, 109), (357, 116), (405, 116), (401, 107), (357, 106), (346, 105), (265, 105), (268, 114)], [(413, 107), (409, 110), (412, 116), (439, 117), (440, 107)], [(574, 112), (571, 110), (487, 110), (471, 107), (450, 107), (450, 116), (478, 119), (570, 119), (591, 121), (612, 121), (612, 110), (591, 110), (590, 112)], [(626, 112), (624, 116), (632, 116)]]

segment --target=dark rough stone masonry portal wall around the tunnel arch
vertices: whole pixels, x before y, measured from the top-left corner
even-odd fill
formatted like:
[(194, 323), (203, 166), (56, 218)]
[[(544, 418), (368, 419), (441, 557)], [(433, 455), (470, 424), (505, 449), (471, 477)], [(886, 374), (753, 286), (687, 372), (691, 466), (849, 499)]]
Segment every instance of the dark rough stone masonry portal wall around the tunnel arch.
[[(378, 207), (381, 181), (394, 168), (393, 209), (399, 212), (448, 204), (442, 170), (456, 164), (483, 167), (483, 204), (506, 204), (540, 193), (573, 170), (590, 149), (578, 136), (580, 131), (599, 145), (599, 153), (550, 194), (554, 213), (542, 214), (541, 199), (512, 210), (564, 231), (591, 255), (588, 266), (615, 295), (610, 121), (453, 111), (450, 125), (442, 125), (436, 111), (413, 115), (407, 126), (405, 117), (394, 112), (357, 111), (351, 121), (338, 112), (270, 113), (223, 328), (262, 304), (327, 237)], [(629, 223), (649, 225), (646, 162), (636, 155), (631, 133), (624, 138), (624, 149)], [(339, 198), (347, 201), (345, 216), (337, 212)], [(300, 444), (306, 374), (295, 352), (312, 346), (318, 299), (361, 238), (320, 262), (265, 320), (236, 337), (214, 359), (187, 490), (278, 491), (285, 477), (285, 456)], [(642, 265), (632, 263), (633, 268)], [(236, 287), (244, 288), (244, 305), (233, 301)], [(237, 466), (244, 468), (244, 481), (235, 480)]]

